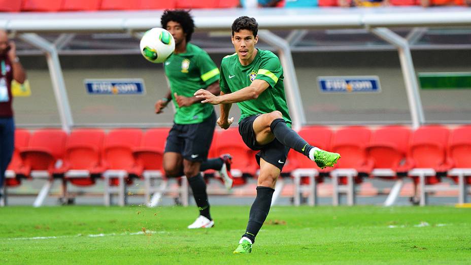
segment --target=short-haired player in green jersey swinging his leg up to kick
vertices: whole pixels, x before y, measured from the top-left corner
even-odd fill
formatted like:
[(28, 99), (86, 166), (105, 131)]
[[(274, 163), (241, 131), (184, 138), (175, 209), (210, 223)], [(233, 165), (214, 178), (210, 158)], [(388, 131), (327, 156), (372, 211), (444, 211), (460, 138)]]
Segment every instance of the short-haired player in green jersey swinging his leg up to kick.
[(258, 24), (254, 18), (239, 17), (232, 23), (232, 44), (235, 53), (222, 59), (219, 86), (221, 95), (200, 89), (194, 94), (201, 103), (221, 104), (218, 125), (227, 129), (232, 103), (241, 109), (239, 132), (260, 165), (257, 197), (250, 209), (249, 222), (234, 253), (250, 253), (252, 244), (270, 211), (278, 176), (293, 148), (315, 161), (321, 169), (332, 167), (340, 154), (311, 146), (292, 130), (283, 86), (280, 59), (271, 51), (255, 49)]

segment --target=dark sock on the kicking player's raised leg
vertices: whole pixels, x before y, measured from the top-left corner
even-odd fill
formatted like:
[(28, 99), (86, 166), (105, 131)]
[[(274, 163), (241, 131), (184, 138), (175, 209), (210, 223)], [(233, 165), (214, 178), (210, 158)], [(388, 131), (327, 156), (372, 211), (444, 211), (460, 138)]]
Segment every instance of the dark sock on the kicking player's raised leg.
[(308, 142), (302, 139), (297, 132), (288, 127), (284, 119), (276, 119), (272, 121), (270, 129), (276, 139), (278, 139), (278, 141), (280, 141), (284, 146), (292, 148), (309, 157), (309, 151), (314, 148), (314, 146), (308, 144)]

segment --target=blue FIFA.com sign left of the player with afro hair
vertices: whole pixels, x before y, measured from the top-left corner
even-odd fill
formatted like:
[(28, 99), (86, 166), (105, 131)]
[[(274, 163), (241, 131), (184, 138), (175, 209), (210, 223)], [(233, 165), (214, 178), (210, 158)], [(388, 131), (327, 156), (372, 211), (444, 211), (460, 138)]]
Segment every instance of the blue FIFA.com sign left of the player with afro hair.
[(136, 95), (145, 94), (144, 80), (138, 79), (85, 79), (89, 94)]

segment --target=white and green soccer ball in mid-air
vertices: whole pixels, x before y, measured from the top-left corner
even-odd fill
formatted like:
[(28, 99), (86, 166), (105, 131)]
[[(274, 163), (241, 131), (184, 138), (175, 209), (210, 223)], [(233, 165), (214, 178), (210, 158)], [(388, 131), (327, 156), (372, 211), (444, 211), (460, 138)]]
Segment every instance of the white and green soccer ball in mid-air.
[(175, 40), (169, 31), (154, 27), (146, 31), (140, 43), (141, 53), (148, 61), (164, 62), (175, 50)]

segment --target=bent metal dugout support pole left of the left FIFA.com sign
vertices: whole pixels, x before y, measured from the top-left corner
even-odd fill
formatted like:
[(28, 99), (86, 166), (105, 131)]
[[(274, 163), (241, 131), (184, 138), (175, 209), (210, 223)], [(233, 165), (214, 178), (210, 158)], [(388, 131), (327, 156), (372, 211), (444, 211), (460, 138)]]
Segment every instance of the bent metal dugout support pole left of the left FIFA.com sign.
[(67, 96), (67, 91), (65, 90), (64, 77), (60, 67), (59, 55), (57, 54), (56, 47), (37, 34), (27, 33), (21, 34), (18, 37), (24, 42), (45, 52), (62, 129), (69, 132), (70, 128), (74, 125), (74, 121), (72, 119), (69, 98)]

